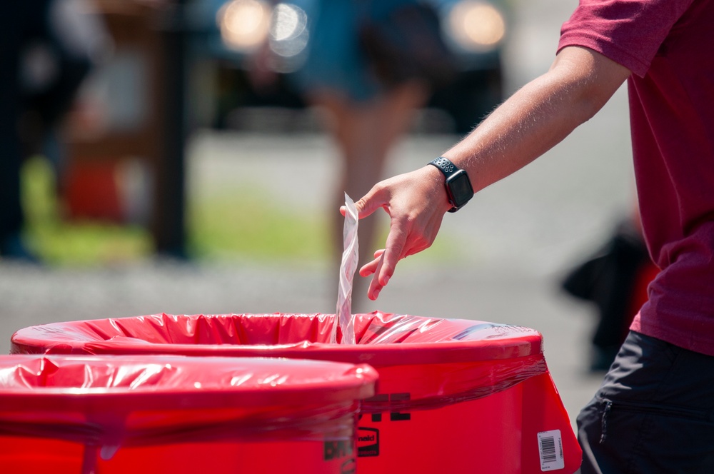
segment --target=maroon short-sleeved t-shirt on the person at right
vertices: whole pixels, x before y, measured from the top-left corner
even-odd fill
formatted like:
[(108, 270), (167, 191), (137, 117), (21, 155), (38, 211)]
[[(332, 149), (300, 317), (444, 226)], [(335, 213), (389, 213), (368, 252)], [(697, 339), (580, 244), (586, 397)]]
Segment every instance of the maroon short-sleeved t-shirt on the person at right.
[(631, 328), (714, 356), (714, 0), (581, 0), (565, 46), (633, 72), (640, 213), (662, 271)]

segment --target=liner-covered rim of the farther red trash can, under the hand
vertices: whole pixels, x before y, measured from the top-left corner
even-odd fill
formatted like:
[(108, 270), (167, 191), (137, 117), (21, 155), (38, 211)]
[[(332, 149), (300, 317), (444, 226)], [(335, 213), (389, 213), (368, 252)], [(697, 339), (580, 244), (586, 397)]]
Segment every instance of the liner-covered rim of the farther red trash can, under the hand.
[[(12, 336), (11, 351), (322, 358), (348, 363), (369, 363), (374, 367), (407, 363), (503, 360), (543, 353), (543, 338), (540, 333), (521, 326), (453, 318), (423, 318), (378, 311), (355, 316), (356, 321), (362, 325), (361, 336), (355, 345), (321, 342), (327, 340), (326, 326), (330, 319), (335, 317), (333, 314), (161, 313), (31, 326), (17, 331)], [(277, 337), (276, 343), (261, 344), (251, 343), (248, 341), (249, 337), (238, 337), (238, 329), (231, 326), (236, 320), (243, 325), (253, 323), (256, 319), (266, 321), (266, 324), (259, 327), (260, 331), (297, 333), (298, 331), (293, 331), (293, 326), (273, 327), (296, 322), (311, 326), (311, 330), (303, 331), (301, 339), (296, 337), (295, 341), (286, 342), (286, 338), (281, 336), (283, 341)], [(313, 331), (315, 326), (319, 329), (317, 335)], [(387, 329), (383, 331), (384, 328)], [(251, 327), (251, 331), (257, 330)], [(366, 334), (365, 331), (368, 330), (371, 333)], [(201, 335), (202, 331), (206, 333), (205, 336)], [(230, 331), (233, 331), (231, 336), (226, 336)], [(248, 329), (243, 328), (243, 331), (250, 336)], [(216, 340), (220, 337), (226, 338), (226, 341)], [(309, 338), (313, 339), (308, 340)]]

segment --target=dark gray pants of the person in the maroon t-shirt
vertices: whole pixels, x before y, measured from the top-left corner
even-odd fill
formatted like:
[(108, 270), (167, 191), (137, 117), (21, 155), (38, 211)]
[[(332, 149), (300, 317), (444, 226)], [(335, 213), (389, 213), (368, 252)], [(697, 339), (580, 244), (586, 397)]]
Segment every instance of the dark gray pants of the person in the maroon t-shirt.
[(713, 474), (714, 357), (630, 332), (578, 439), (582, 474)]

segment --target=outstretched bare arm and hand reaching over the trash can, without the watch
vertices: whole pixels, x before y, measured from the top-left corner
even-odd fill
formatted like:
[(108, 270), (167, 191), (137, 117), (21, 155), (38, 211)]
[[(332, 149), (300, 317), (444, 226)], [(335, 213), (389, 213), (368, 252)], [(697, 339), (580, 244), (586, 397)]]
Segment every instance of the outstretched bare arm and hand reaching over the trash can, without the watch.
[[(567, 47), (543, 76), (523, 86), (478, 128), (443, 156), (466, 169), (473, 190), (505, 178), (563, 140), (594, 116), (630, 71), (590, 49)], [(373, 274), (368, 297), (376, 299), (397, 262), (431, 246), (444, 213), (443, 175), (424, 166), (377, 183), (357, 201), (360, 218), (383, 208), (391, 223), (385, 248), (360, 269)]]

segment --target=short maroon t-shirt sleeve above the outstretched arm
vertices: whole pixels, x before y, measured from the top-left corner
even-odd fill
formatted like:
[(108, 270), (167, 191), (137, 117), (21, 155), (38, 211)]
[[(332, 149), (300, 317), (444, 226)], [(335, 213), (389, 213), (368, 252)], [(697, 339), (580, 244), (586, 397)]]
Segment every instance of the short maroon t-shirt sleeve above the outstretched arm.
[(580, 0), (560, 29), (565, 46), (593, 49), (642, 77), (693, 0)]

